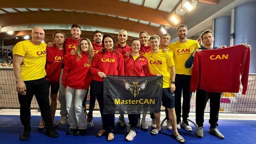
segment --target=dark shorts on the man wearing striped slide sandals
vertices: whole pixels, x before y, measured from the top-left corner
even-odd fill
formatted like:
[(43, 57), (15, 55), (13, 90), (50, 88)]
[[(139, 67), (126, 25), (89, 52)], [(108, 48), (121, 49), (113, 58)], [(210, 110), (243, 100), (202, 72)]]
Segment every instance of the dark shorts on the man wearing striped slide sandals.
[(174, 92), (171, 93), (170, 88), (163, 88), (162, 105), (167, 108), (174, 108), (174, 101)]

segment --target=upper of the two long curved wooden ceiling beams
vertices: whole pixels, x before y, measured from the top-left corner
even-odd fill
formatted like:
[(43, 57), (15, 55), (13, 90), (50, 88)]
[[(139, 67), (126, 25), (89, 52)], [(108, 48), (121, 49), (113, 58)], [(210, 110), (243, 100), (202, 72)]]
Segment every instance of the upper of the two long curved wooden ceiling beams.
[[(95, 9), (95, 4), (97, 9)], [(114, 4), (114, 5), (113, 5)], [(26, 2), (20, 2), (20, 0), (1, 0), (1, 8), (48, 8), (48, 9), (69, 9), (73, 11), (84, 11), (84, 12), (95, 12), (104, 13), (108, 15), (118, 15), (120, 17), (133, 18), (148, 22), (154, 22), (156, 24), (162, 24), (170, 27), (173, 26), (170, 19), (170, 13), (164, 11), (158, 11), (153, 8), (141, 7), (140, 5), (131, 4), (119, 0), (94, 0), (88, 2), (82, 2), (76, 7), (70, 7), (70, 0), (62, 0), (62, 2), (56, 4), (56, 1), (45, 0), (38, 5), (37, 1), (27, 0)], [(108, 11), (105, 8), (108, 7)], [(121, 11), (126, 11), (125, 13), (120, 13)], [(136, 13), (135, 13), (136, 12)], [(145, 17), (147, 13), (147, 17)], [(180, 24), (183, 23), (183, 16), (179, 15), (178, 18)]]

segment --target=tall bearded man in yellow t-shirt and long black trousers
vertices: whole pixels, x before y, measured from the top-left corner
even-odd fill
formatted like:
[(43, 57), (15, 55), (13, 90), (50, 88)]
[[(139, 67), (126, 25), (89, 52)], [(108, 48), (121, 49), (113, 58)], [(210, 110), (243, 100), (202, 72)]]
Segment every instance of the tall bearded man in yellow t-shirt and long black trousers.
[[(196, 40), (187, 39), (187, 26), (179, 25), (177, 27), (177, 35), (179, 40), (172, 42), (168, 45), (168, 50), (173, 53), (173, 59), (175, 63), (175, 112), (177, 116), (177, 128), (180, 129), (180, 125), (185, 128), (186, 131), (192, 131), (191, 126), (188, 124), (187, 118), (190, 112), (190, 99), (192, 92), (189, 91), (191, 68), (185, 67), (186, 60), (198, 49), (200, 45)], [(182, 123), (181, 121), (181, 95), (183, 95), (182, 106)]]

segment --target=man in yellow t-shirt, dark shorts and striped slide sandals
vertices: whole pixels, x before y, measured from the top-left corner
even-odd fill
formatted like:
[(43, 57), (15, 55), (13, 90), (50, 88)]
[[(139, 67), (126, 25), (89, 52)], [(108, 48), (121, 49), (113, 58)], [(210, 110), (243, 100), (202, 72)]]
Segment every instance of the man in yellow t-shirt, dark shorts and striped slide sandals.
[[(176, 115), (174, 110), (174, 91), (175, 91), (175, 67), (171, 53), (163, 53), (159, 50), (160, 38), (157, 35), (152, 35), (149, 38), (151, 51), (145, 53), (144, 57), (148, 60), (149, 72), (152, 74), (161, 74), (163, 76), (163, 93), (162, 105), (168, 110), (168, 117), (173, 125), (172, 135), (179, 142), (185, 142), (184, 138), (179, 135), (176, 124)], [(151, 135), (157, 135), (161, 130), (160, 126), (160, 111), (154, 113), (156, 128), (151, 131)]]

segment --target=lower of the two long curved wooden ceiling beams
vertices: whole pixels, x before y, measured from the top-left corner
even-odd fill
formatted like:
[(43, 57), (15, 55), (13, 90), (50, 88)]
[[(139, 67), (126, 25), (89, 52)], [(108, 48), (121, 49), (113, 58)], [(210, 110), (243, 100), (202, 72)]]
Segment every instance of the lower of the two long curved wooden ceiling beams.
[[(58, 15), (58, 17), (52, 17)], [(76, 17), (74, 17), (74, 15)], [(81, 18), (87, 18), (86, 20)], [(135, 21), (121, 18), (110, 17), (100, 14), (80, 13), (80, 12), (62, 12), (62, 11), (35, 11), (0, 14), (0, 26), (9, 25), (33, 25), (33, 24), (69, 24), (74, 22), (78, 25), (98, 26), (105, 28), (114, 28), (118, 30), (125, 29), (130, 32), (140, 33), (147, 31), (149, 35), (161, 34), (158, 27), (141, 24)], [(42, 21), (43, 20), (43, 21)]]

